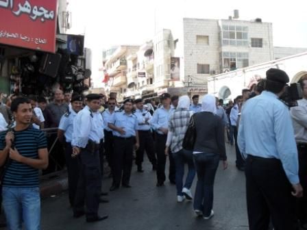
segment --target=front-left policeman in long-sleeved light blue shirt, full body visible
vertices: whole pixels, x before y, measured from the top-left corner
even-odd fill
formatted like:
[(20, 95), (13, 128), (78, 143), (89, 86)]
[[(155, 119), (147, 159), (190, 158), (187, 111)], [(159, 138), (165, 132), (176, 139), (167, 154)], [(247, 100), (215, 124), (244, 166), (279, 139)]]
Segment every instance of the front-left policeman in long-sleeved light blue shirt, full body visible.
[(86, 221), (104, 220), (108, 216), (99, 216), (99, 195), (101, 192), (101, 171), (99, 159), (99, 142), (103, 138), (103, 119), (98, 112), (101, 96), (88, 94), (86, 106), (73, 121), (73, 157), (79, 159), (79, 181), (75, 194), (73, 216), (84, 215)]

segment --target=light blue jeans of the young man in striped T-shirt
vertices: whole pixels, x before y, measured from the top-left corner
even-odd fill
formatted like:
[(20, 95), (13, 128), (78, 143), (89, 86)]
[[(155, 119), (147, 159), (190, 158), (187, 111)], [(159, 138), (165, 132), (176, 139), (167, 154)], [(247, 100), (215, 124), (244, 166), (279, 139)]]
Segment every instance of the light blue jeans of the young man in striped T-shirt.
[(3, 209), (8, 230), (40, 229), (40, 190), (36, 188), (3, 187)]

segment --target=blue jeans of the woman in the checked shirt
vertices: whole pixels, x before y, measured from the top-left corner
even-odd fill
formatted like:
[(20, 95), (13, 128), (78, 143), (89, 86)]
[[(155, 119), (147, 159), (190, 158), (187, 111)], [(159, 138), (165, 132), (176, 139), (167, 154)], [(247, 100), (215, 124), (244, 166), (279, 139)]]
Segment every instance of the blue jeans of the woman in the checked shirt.
[(175, 181), (177, 188), (177, 196), (183, 196), (183, 178), (184, 178), (184, 163), (188, 164), (188, 175), (186, 175), (186, 183), (184, 188), (190, 189), (195, 177), (195, 168), (193, 163), (193, 154), (191, 151), (181, 149), (177, 153), (172, 153), (175, 160)]

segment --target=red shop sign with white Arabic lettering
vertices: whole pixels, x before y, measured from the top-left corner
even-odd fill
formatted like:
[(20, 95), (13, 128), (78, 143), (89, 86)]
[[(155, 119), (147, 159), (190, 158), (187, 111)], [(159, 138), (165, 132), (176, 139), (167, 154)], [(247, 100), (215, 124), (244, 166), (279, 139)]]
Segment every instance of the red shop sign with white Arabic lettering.
[(57, 0), (0, 0), (0, 43), (56, 52)]

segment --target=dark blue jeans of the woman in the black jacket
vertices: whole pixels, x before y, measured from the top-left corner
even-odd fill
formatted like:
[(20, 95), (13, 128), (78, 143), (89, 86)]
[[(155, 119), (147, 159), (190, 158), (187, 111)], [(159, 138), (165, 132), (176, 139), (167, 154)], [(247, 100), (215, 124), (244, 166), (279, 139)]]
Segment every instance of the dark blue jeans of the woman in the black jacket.
[(219, 166), (219, 155), (214, 153), (193, 154), (197, 171), (197, 186), (194, 197), (194, 209), (201, 210), (209, 216), (213, 207), (213, 183)]

